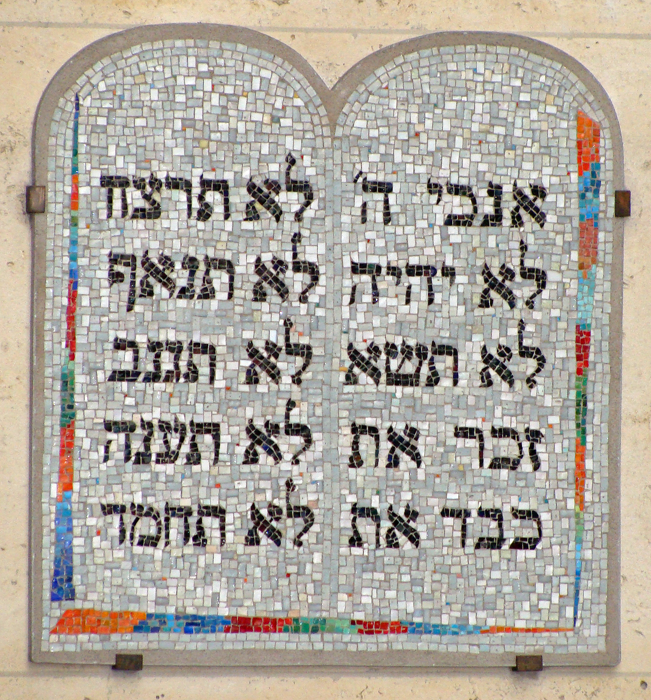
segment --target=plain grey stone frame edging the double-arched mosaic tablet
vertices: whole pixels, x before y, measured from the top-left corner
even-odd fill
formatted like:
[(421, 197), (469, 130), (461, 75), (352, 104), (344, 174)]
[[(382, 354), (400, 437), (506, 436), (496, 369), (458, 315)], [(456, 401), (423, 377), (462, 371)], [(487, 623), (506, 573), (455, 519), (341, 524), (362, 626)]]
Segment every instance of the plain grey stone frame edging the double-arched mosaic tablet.
[[(594, 96), (594, 105), (606, 115), (612, 139), (613, 186), (624, 188), (624, 148), (622, 134), (612, 102), (596, 78), (578, 61), (565, 52), (542, 41), (517, 34), (486, 31), (443, 31), (394, 43), (362, 59), (352, 66), (330, 90), (315, 70), (299, 53), (286, 44), (251, 29), (231, 25), (170, 24), (148, 25), (128, 29), (88, 45), (71, 57), (50, 81), (43, 92), (34, 118), (32, 139), (32, 177), (34, 184), (47, 183), (48, 138), (50, 123), (59, 98), (69, 90), (84, 71), (99, 59), (117, 51), (146, 41), (166, 39), (206, 39), (213, 41), (240, 42), (252, 48), (269, 51), (292, 64), (310, 82), (322, 100), (331, 127), (336, 126), (349, 95), (362, 80), (396, 56), (441, 46), (488, 44), (506, 45), (535, 52), (559, 62), (572, 71)], [(607, 194), (607, 211), (613, 211), (614, 192)], [(607, 213), (607, 212), (606, 212)], [(605, 217), (603, 217), (605, 218)], [(624, 259), (624, 221), (613, 222), (613, 263), (611, 267), (611, 314), (610, 314), (610, 414), (608, 419), (608, 503), (610, 519), (608, 530), (608, 598), (606, 610), (606, 651), (578, 654), (543, 654), (545, 666), (615, 666), (620, 661), (620, 405), (622, 393), (622, 280)], [(31, 416), (30, 416), (30, 548), (29, 548), (29, 598), (30, 598), (30, 650), (31, 661), (57, 664), (113, 664), (115, 652), (43, 652), (42, 598), (43, 580), (41, 570), (42, 505), (41, 476), (43, 465), (44, 422), (44, 357), (43, 319), (45, 313), (45, 236), (46, 217), (36, 214), (31, 217)], [(530, 653), (542, 654), (543, 650), (531, 649)], [(222, 669), (237, 668), (238, 672), (259, 673), (260, 667), (272, 671), (275, 667), (285, 674), (289, 667), (308, 671), (310, 667), (330, 671), (378, 671), (393, 669), (400, 673), (424, 673), (427, 669), (445, 667), (490, 667), (513, 666), (514, 653), (492, 654), (482, 652), (421, 652), (421, 651), (377, 651), (377, 652), (317, 652), (238, 650), (215, 652), (144, 651), (145, 666), (219, 666)], [(283, 668), (284, 667), (284, 668)]]

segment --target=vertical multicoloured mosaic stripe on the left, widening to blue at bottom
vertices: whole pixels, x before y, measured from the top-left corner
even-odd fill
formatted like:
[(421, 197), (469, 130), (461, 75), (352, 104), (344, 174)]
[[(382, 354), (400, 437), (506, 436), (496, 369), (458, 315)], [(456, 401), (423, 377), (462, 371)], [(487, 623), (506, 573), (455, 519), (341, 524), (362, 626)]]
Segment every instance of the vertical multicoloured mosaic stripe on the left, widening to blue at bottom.
[(75, 447), (75, 321), (77, 311), (77, 241), (79, 227), (79, 95), (75, 95), (72, 141), (72, 183), (70, 194), (70, 238), (68, 242), (68, 304), (66, 306), (66, 348), (68, 358), (61, 368), (61, 442), (59, 482), (55, 511), (55, 563), (52, 572), (52, 601), (73, 601), (72, 484)]

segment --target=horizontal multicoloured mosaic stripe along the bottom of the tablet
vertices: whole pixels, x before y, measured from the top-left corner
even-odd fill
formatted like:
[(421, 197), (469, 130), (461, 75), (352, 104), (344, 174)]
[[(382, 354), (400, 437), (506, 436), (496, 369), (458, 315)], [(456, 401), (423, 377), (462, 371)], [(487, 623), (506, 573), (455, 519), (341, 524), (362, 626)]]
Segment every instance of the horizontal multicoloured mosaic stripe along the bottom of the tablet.
[(573, 627), (506, 627), (429, 622), (379, 622), (338, 617), (238, 617), (234, 615), (174, 615), (158, 612), (108, 612), (77, 608), (66, 610), (50, 634), (534, 634), (572, 632)]

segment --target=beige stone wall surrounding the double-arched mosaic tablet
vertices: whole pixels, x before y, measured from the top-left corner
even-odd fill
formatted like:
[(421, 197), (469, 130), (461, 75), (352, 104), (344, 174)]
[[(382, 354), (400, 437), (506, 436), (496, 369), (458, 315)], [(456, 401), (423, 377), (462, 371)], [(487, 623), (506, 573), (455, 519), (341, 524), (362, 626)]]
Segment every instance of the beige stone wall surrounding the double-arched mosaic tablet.
[[(610, 95), (624, 138), (626, 186), (622, 399), (622, 662), (613, 669), (437, 671), (382, 675), (55, 667), (28, 661), (28, 421), (31, 129), (41, 93), (88, 43), (159, 22), (243, 25), (284, 41), (332, 85), (373, 50), (442, 30), (511, 31), (584, 64)], [(527, 700), (651, 697), (651, 9), (646, 0), (3, 0), (0, 2), (0, 699)]]

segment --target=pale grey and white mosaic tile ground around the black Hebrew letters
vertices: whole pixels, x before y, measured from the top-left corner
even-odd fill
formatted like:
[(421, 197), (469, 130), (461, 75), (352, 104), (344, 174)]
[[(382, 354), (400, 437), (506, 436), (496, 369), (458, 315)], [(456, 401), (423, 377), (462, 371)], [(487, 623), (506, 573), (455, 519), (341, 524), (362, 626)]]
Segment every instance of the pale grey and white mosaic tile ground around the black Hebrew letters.
[[(559, 64), (524, 51), (490, 47), (449, 48), (395, 59), (378, 69), (349, 99), (336, 127), (334, 151), (327, 118), (315, 92), (291, 66), (280, 59), (241, 46), (208, 42), (143, 45), (123, 57), (94, 66), (66, 94), (61, 113), (52, 125), (50, 197), (55, 214), (48, 218), (48, 302), (45, 316), (46, 389), (45, 454), (43, 464), (43, 649), (82, 650), (124, 648), (129, 638), (50, 636), (62, 609), (71, 604), (50, 603), (50, 561), (54, 552), (53, 512), (58, 470), (59, 377), (62, 332), (65, 332), (67, 283), (67, 227), (70, 197), (73, 95), (82, 100), (80, 114), (80, 283), (76, 363), (76, 485), (75, 587), (77, 607), (99, 610), (140, 610), (222, 615), (280, 617), (339, 617), (341, 619), (402, 619), (435, 624), (492, 624), (525, 627), (571, 627), (574, 600), (574, 325), (578, 269), (578, 195), (575, 118), (578, 109), (602, 126), (599, 267), (592, 323), (589, 369), (588, 461), (580, 623), (573, 634), (441, 638), (364, 638), (342, 635), (194, 635), (172, 636), (175, 648), (208, 649), (241, 645), (244, 638), (264, 648), (320, 649), (418, 648), (429, 650), (522, 650), (544, 645), (545, 651), (603, 649), (606, 615), (606, 533), (608, 531), (608, 253), (612, 239), (604, 216), (605, 195), (612, 190), (610, 134), (603, 114), (593, 111), (592, 97)], [(285, 156), (299, 161), (292, 177), (308, 179), (315, 200), (294, 222), (302, 200), (296, 193), (276, 197), (285, 214), (276, 224), (266, 211), (260, 221), (245, 222), (250, 177), (285, 178)], [(334, 153), (334, 157), (333, 154)], [(299, 159), (299, 155), (302, 156)], [(392, 223), (382, 223), (382, 195), (362, 193), (362, 169), (369, 180), (391, 181)], [(224, 221), (221, 197), (215, 194), (215, 214), (197, 222), (196, 194), (202, 174), (231, 183), (231, 220)], [(128, 174), (148, 178), (150, 172), (184, 176), (192, 181), (193, 218), (187, 218), (186, 198), (162, 190), (162, 216), (154, 221), (106, 219), (106, 189), (100, 174)], [(427, 181), (443, 184), (443, 196), (427, 193)], [(529, 183), (544, 186), (547, 221), (543, 230), (524, 214), (524, 228), (509, 228), (512, 186), (517, 180), (529, 193)], [(445, 227), (451, 211), (471, 211), (468, 200), (445, 192), (445, 183), (470, 183), (477, 197), (478, 215), (471, 228)], [(480, 228), (482, 216), (492, 214), (487, 183), (503, 186), (504, 223)], [(127, 190), (131, 207), (145, 206), (134, 190)], [(360, 223), (362, 201), (368, 220)], [(538, 202), (540, 204), (540, 202)], [(115, 190), (114, 212), (120, 210)], [(51, 210), (50, 210), (51, 211)], [(338, 212), (341, 211), (341, 214)], [(612, 213), (611, 213), (612, 214)], [(299, 256), (315, 262), (320, 282), (299, 302), (306, 276), (294, 276), (292, 235), (302, 235)], [(534, 310), (524, 297), (534, 283), (520, 279), (520, 239), (529, 246), (525, 264), (545, 269), (547, 288)], [(136, 299), (127, 312), (128, 283), (108, 284), (108, 253), (134, 253), (138, 260), (136, 294), (143, 270), (141, 257), (165, 253), (173, 260), (178, 286), (185, 253), (200, 261), (205, 255), (227, 258), (235, 268), (234, 298), (227, 300), (226, 277), (213, 272), (215, 300), (169, 297), (155, 283), (153, 299)], [(272, 255), (287, 262), (285, 302), (267, 288), (267, 302), (252, 302), (258, 277), (255, 259), (271, 266)], [(352, 280), (350, 261), (382, 265), (379, 300), (371, 301), (369, 276)], [(487, 262), (494, 274), (506, 263), (515, 272), (514, 309), (496, 295), (494, 306), (478, 308), (484, 288), (480, 274)], [(407, 264), (435, 265), (434, 303), (427, 303), (424, 278), (407, 279)], [(454, 283), (442, 279), (441, 266), (455, 267)], [(399, 265), (403, 276), (396, 285), (385, 276), (387, 265)], [(126, 278), (127, 267), (120, 267)], [(201, 286), (203, 266), (196, 275)], [(356, 301), (349, 304), (352, 282)], [(412, 302), (404, 304), (412, 283)], [(283, 379), (276, 386), (261, 372), (258, 386), (245, 384), (248, 339), (259, 349), (264, 342), (283, 342), (283, 321), (292, 318), (292, 342), (310, 343), (313, 359), (301, 386), (289, 380), (294, 358), (280, 354)], [(517, 325), (527, 323), (524, 342), (540, 346), (546, 358), (533, 390), (524, 377), (535, 363), (517, 354)], [(62, 331), (63, 329), (63, 331)], [(299, 335), (299, 332), (301, 335)], [(196, 384), (108, 383), (108, 372), (131, 368), (131, 355), (113, 351), (113, 337), (134, 338), (141, 346), (140, 370), (147, 339), (165, 342), (199, 341), (217, 351), (215, 382), (208, 383), (207, 358), (195, 356)], [(350, 365), (346, 348), (360, 350), (375, 342), (400, 345), (432, 341), (449, 343), (459, 351), (459, 384), (452, 386), (450, 364), (441, 381), (427, 387), (427, 360), (421, 386), (379, 386), (362, 376), (345, 386)], [(510, 346), (515, 384), (508, 389), (493, 374), (494, 386), (480, 386), (480, 349), (493, 352), (498, 342)], [(166, 353), (162, 370), (173, 365)], [(298, 360), (296, 367), (300, 366)], [(187, 351), (180, 370), (187, 370)], [(378, 366), (385, 374), (385, 356)], [(392, 366), (395, 368), (396, 363)], [(413, 371), (407, 363), (402, 371)], [(292, 421), (310, 427), (313, 444), (292, 465), (299, 445), (282, 433), (285, 403), (296, 401)], [(144, 421), (176, 416), (189, 426), (195, 421), (221, 424), (220, 461), (213, 465), (208, 438), (199, 449), (200, 464), (185, 464), (185, 440), (176, 464), (124, 464), (123, 437), (108, 435), (103, 421), (134, 420), (132, 449), (141, 449)], [(282, 460), (260, 457), (245, 465), (249, 419), (262, 427), (266, 419), (280, 423), (277, 442)], [(352, 421), (376, 426), (380, 434), (378, 468), (373, 468), (369, 440), (362, 438), (364, 467), (348, 468)], [(420, 430), (422, 467), (401, 456), (397, 469), (387, 469), (387, 430), (399, 432), (405, 423)], [(522, 463), (514, 471), (480, 470), (477, 449), (457, 440), (455, 426), (478, 426), (486, 435), (485, 466), (494, 455), (507, 453), (506, 441), (490, 437), (491, 426), (511, 427), (520, 433)], [(543, 432), (537, 446), (540, 470), (532, 470), (524, 440), (525, 427)], [(189, 430), (189, 427), (188, 427)], [(107, 437), (114, 440), (103, 462)], [(176, 441), (176, 440), (175, 440)], [(118, 449), (115, 450), (115, 443)], [(152, 451), (165, 446), (155, 433)], [(280, 547), (262, 538), (259, 548), (245, 547), (252, 501), (264, 511), (273, 501), (285, 507), (285, 480), (296, 483), (293, 503), (308, 505), (315, 524), (301, 549), (292, 545), (295, 524), (283, 518), (278, 527)], [(55, 492), (55, 491), (54, 491)], [(210, 544), (203, 550), (183, 547), (183, 533), (172, 528), (171, 546), (118, 545), (117, 518), (101, 517), (99, 503), (142, 503), (161, 513), (169, 501), (190, 505), (220, 503), (227, 509), (227, 542), (219, 546), (217, 528), (206, 531)], [(352, 503), (380, 512), (380, 547), (374, 528), (359, 522), (364, 546), (351, 549)], [(399, 548), (385, 547), (389, 528), (387, 508), (404, 512), (409, 503), (418, 512), (415, 526), (420, 547), (399, 538)], [(460, 547), (459, 521), (441, 518), (441, 507), (471, 510), (465, 549)], [(478, 537), (496, 535), (476, 517), (478, 508), (504, 511), (506, 545), (499, 551), (476, 550)], [(534, 531), (510, 518), (510, 508), (534, 509), (540, 515), (543, 540), (531, 552), (509, 550), (508, 542)], [(190, 518), (194, 533), (196, 517)], [(179, 521), (172, 521), (174, 524)], [(299, 521), (296, 521), (299, 522)], [(97, 534), (99, 531), (99, 535)], [(146, 531), (142, 531), (146, 534)], [(155, 531), (151, 531), (152, 533)], [(171, 635), (151, 634), (146, 648), (164, 648)], [(138, 640), (142, 643), (142, 640)]]

